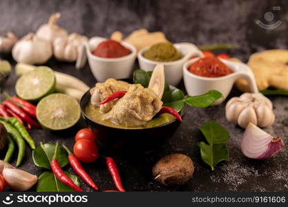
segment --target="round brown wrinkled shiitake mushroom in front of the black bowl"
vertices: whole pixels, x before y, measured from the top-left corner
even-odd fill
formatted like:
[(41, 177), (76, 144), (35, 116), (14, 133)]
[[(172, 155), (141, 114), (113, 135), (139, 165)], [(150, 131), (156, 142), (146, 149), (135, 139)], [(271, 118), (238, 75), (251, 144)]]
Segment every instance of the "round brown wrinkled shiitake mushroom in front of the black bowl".
[(193, 172), (193, 161), (182, 154), (162, 157), (152, 169), (155, 180), (165, 186), (180, 186), (191, 179)]

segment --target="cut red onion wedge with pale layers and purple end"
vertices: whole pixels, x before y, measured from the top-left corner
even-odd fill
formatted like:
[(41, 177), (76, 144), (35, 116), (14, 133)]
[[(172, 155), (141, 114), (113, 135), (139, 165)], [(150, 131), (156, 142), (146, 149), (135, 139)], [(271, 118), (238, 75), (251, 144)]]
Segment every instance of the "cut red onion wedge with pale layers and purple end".
[(279, 152), (284, 145), (281, 138), (274, 138), (249, 123), (242, 138), (241, 150), (246, 157), (251, 159), (268, 159)]

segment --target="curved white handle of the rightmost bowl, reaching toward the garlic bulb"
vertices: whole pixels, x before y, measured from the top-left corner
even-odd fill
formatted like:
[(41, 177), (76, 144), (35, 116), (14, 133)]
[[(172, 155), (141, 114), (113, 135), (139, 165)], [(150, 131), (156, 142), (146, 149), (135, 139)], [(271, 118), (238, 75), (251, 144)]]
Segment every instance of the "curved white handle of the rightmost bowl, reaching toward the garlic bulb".
[(258, 93), (259, 90), (256, 84), (256, 80), (249, 66), (247, 66), (244, 63), (235, 63), (235, 64), (239, 65), (239, 70), (234, 77), (234, 81), (236, 81), (237, 79), (241, 79), (241, 78), (246, 79), (249, 83), (249, 88), (251, 92)]

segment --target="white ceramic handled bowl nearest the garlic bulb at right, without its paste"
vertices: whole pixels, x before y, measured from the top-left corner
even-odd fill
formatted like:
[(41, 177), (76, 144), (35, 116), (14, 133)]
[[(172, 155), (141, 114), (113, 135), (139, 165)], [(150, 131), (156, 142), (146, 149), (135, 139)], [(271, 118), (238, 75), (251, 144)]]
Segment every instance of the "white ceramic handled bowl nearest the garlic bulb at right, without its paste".
[(246, 79), (248, 81), (251, 92), (258, 92), (253, 72), (246, 64), (220, 59), (233, 72), (222, 77), (202, 77), (194, 75), (188, 70), (191, 64), (195, 61), (198, 61), (198, 59), (199, 58), (191, 59), (187, 61), (183, 66), (184, 85), (188, 95), (202, 95), (209, 90), (218, 90), (222, 92), (223, 95), (222, 99), (219, 99), (215, 102), (215, 104), (219, 104), (222, 103), (224, 99), (226, 99), (226, 97), (229, 95), (229, 92), (231, 91), (233, 83), (240, 78)]

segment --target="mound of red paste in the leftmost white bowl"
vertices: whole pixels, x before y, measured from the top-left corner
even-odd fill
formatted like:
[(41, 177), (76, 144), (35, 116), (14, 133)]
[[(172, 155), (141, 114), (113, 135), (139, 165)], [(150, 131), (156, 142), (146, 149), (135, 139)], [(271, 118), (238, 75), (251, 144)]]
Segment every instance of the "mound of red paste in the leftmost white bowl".
[(121, 43), (112, 39), (99, 43), (96, 50), (93, 51), (93, 55), (106, 58), (124, 57), (130, 53), (131, 50), (125, 48)]

